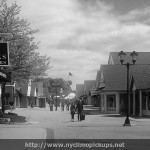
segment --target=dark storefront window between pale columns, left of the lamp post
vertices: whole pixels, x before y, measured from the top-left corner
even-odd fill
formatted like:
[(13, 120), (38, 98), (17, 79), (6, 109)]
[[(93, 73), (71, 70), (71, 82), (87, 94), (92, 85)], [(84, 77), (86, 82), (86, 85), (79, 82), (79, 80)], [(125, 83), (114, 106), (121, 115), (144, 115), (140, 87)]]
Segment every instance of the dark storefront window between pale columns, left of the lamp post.
[(108, 111), (116, 111), (116, 95), (107, 95)]

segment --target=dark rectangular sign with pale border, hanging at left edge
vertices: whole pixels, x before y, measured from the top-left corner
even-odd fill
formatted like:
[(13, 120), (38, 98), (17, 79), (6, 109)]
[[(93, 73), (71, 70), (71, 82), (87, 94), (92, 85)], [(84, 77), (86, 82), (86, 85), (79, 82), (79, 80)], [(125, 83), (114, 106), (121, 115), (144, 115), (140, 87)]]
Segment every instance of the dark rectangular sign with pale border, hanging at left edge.
[(9, 66), (9, 45), (8, 42), (0, 43), (0, 66)]

